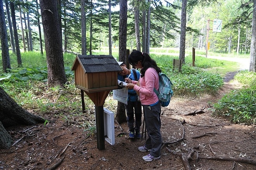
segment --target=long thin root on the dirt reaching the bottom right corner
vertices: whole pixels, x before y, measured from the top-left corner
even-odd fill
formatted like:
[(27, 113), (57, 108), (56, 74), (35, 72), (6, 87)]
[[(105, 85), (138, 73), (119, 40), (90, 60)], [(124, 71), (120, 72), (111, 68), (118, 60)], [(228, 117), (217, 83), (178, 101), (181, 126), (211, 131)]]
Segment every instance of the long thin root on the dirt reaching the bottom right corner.
[(241, 163), (248, 163), (251, 165), (256, 165), (256, 160), (247, 159), (247, 158), (231, 158), (231, 157), (222, 157), (222, 156), (199, 156), (199, 159), (207, 159), (207, 160), (222, 160), (222, 161), (234, 161), (234, 162), (241, 162)]

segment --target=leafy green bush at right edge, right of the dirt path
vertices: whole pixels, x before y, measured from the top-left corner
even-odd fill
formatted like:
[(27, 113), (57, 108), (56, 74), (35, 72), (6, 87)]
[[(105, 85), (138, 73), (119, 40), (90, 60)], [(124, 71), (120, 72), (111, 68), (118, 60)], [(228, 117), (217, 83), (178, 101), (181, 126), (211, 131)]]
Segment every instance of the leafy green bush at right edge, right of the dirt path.
[(230, 117), (234, 123), (255, 124), (256, 85), (250, 88), (233, 90), (214, 104), (214, 112)]

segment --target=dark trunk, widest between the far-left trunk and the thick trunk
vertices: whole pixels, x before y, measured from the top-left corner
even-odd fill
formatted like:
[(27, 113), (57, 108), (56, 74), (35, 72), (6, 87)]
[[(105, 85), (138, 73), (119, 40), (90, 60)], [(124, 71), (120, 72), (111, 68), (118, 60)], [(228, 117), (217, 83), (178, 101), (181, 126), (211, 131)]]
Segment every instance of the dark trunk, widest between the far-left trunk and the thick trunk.
[(19, 49), (19, 37), (18, 37), (18, 31), (17, 31), (14, 2), (11, 2), (11, 1), (10, 1), (10, 11), (11, 11), (11, 17), (12, 17), (12, 27), (13, 27), (13, 33), (14, 33), (17, 63), (18, 63), (18, 66), (20, 67), (22, 66), (21, 50)]

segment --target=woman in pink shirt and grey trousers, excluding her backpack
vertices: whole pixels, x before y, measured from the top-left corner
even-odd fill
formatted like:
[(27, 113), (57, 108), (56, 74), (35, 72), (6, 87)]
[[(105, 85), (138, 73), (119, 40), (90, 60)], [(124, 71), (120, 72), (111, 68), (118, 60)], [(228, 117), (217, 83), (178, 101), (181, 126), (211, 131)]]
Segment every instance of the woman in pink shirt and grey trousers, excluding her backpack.
[(161, 69), (157, 66), (156, 61), (151, 59), (149, 54), (140, 51), (133, 51), (128, 56), (128, 61), (132, 66), (140, 68), (140, 85), (136, 85), (137, 81), (131, 81), (125, 78), (128, 82), (129, 89), (133, 89), (140, 93), (140, 102), (143, 106), (145, 126), (147, 129), (148, 138), (144, 146), (138, 147), (139, 151), (150, 151), (148, 155), (143, 156), (143, 160), (152, 161), (160, 158), (162, 147), (162, 136), (160, 132), (161, 120), (161, 104), (154, 93), (154, 88), (158, 90), (159, 80), (158, 74)]

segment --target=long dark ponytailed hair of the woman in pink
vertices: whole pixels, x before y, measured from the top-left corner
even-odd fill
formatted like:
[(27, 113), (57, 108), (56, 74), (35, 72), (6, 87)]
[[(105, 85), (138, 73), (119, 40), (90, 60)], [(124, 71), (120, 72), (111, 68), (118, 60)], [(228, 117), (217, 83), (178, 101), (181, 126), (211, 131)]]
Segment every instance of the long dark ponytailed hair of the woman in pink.
[(138, 50), (131, 52), (131, 54), (128, 56), (128, 61), (133, 66), (136, 65), (138, 61), (142, 63), (142, 69), (140, 70), (141, 77), (144, 77), (145, 71), (149, 67), (154, 68), (158, 74), (162, 72), (161, 69), (157, 66), (156, 61), (154, 59), (151, 59), (149, 54), (142, 53)]

